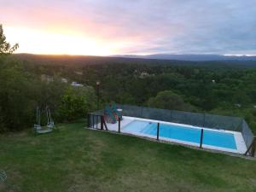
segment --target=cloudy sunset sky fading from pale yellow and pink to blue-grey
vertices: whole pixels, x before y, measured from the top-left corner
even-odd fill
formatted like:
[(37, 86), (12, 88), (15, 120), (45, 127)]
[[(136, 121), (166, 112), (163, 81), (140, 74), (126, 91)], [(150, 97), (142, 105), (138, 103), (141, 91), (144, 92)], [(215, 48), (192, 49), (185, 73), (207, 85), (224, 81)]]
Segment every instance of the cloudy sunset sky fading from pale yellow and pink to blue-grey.
[(19, 53), (256, 55), (256, 0), (0, 0)]

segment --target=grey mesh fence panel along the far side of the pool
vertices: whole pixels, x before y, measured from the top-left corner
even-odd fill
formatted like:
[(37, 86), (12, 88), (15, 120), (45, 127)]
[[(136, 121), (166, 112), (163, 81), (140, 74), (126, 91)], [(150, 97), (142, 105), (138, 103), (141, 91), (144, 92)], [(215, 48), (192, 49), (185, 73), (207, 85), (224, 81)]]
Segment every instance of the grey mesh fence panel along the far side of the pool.
[[(242, 131), (244, 129), (244, 137), (247, 137), (247, 130), (250, 131), (250, 129), (247, 127), (247, 124), (245, 124), (246, 122), (244, 123), (243, 119), (237, 117), (207, 113), (190, 113), (176, 110), (147, 108), (120, 104), (117, 104), (117, 107), (123, 109), (123, 115), (125, 116), (161, 120), (228, 131)], [(103, 110), (98, 110), (94, 114), (101, 115), (103, 114), (103, 112)], [(251, 133), (248, 134), (251, 136)]]

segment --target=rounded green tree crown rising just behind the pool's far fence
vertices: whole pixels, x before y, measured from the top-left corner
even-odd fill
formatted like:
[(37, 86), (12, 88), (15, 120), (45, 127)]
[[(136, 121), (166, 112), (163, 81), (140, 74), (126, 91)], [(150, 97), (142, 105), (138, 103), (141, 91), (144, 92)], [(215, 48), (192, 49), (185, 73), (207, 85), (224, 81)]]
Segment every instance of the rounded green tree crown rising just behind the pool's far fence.
[(148, 99), (148, 106), (153, 108), (165, 108), (191, 111), (194, 108), (183, 101), (183, 98), (172, 90), (160, 91), (157, 96)]

